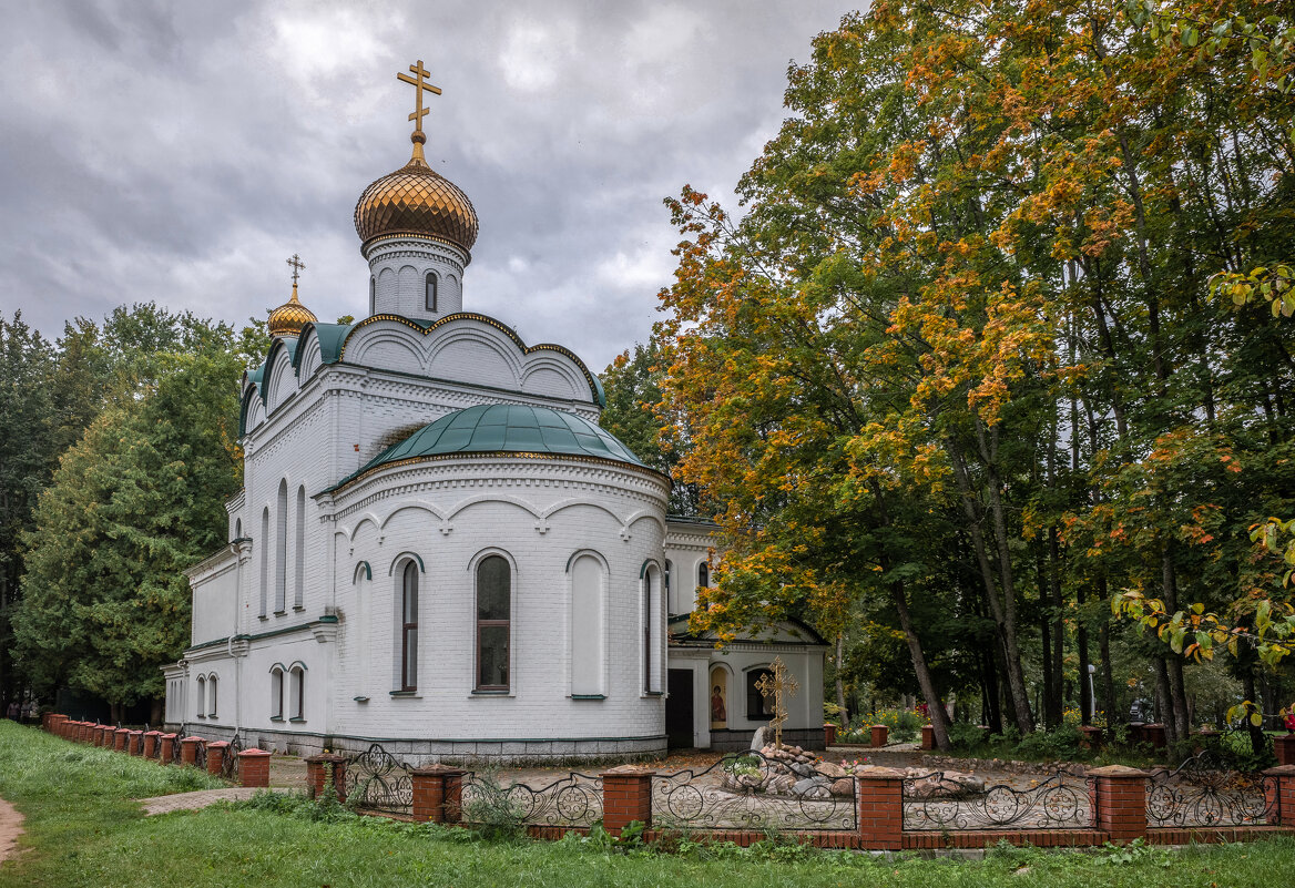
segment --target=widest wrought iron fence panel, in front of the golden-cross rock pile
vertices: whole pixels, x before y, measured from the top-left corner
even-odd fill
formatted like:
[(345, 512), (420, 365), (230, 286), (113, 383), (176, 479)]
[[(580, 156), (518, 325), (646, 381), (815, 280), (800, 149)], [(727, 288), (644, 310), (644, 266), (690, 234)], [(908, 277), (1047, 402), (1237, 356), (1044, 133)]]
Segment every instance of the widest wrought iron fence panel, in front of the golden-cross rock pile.
[[(653, 778), (653, 823), (677, 830), (853, 831), (853, 778), (817, 774), (760, 752), (729, 753), (703, 770)], [(808, 773), (807, 773), (808, 771)]]

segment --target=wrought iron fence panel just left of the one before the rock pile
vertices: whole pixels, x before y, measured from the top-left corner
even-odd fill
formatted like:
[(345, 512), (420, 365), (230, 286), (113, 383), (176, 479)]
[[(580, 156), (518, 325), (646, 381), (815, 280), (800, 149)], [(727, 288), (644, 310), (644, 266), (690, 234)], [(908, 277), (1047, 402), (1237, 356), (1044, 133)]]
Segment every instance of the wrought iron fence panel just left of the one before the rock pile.
[(543, 787), (501, 786), (488, 774), (464, 774), (462, 819), (493, 818), (527, 826), (593, 826), (602, 819), (602, 778), (571, 771)]

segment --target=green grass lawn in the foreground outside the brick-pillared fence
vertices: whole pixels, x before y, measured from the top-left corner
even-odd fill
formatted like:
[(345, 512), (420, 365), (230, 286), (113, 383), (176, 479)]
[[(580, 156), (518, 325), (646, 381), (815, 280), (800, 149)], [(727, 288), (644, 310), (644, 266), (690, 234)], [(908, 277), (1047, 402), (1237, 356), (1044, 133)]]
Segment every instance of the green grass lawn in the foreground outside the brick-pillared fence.
[(487, 841), (343, 817), (313, 821), (267, 808), (144, 818), (131, 799), (211, 786), (164, 768), (0, 722), (0, 796), (26, 816), (26, 848), (0, 865), (8, 885), (1153, 885), (1290, 884), (1295, 841), (1131, 852), (995, 850), (983, 861), (882, 860), (777, 845), (688, 856), (618, 852), (591, 843)]

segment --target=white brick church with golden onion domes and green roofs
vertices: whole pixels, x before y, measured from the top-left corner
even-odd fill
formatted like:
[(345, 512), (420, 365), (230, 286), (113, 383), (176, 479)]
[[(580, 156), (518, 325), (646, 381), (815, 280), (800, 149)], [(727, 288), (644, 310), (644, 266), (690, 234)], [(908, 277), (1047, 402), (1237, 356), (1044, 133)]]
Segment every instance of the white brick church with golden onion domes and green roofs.
[(319, 322), (297, 268), (271, 313), (167, 727), (422, 761), (745, 748), (781, 656), (800, 687), (786, 742), (821, 747), (822, 639), (689, 633), (715, 527), (666, 514), (670, 479), (598, 427), (575, 353), (464, 311), (477, 214), (423, 141), (355, 208), (366, 316)]

